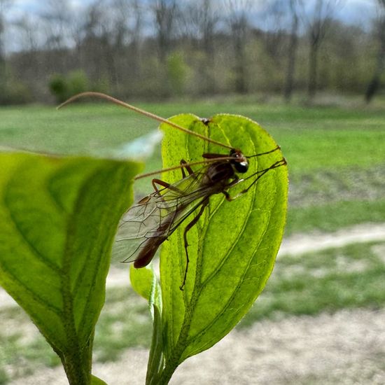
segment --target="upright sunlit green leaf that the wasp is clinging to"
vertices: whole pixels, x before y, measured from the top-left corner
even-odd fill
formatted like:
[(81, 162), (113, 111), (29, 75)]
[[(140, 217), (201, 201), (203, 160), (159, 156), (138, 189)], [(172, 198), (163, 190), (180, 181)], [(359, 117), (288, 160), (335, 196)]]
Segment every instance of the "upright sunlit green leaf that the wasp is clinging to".
[[(216, 115), (205, 125), (193, 115), (172, 118), (190, 130), (233, 148), (245, 155), (276, 148), (272, 137), (257, 123), (242, 116)], [(203, 153), (228, 149), (162, 125), (164, 167), (202, 160)], [(247, 177), (282, 158), (281, 151), (250, 158)], [(197, 169), (197, 167), (193, 167)], [(174, 183), (181, 171), (164, 176)], [(230, 188), (232, 197), (248, 187), (255, 177)], [(186, 358), (213, 346), (246, 314), (272, 272), (286, 223), (287, 167), (269, 170), (248, 193), (228, 202), (223, 194), (210, 198), (200, 221), (188, 232), (190, 265), (186, 286), (179, 289), (186, 269), (183, 230), (194, 214), (162, 246), (162, 324), (164, 325), (167, 380)], [(195, 213), (196, 215), (196, 213)]]

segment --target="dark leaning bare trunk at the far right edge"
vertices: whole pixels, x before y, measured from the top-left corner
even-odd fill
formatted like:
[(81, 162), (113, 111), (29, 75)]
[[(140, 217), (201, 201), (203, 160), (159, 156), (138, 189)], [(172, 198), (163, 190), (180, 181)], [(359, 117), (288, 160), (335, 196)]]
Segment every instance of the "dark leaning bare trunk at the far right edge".
[(375, 30), (379, 48), (377, 51), (377, 63), (370, 83), (365, 92), (365, 101), (369, 103), (381, 84), (381, 75), (385, 70), (385, 0), (377, 0), (378, 12), (375, 20)]

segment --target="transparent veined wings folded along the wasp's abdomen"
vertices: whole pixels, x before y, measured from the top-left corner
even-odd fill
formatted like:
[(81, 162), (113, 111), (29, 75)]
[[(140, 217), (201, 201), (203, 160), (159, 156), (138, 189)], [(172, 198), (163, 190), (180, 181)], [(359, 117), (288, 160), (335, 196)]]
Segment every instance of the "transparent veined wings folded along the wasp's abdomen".
[(148, 242), (160, 246), (209, 197), (210, 188), (202, 186), (206, 170), (203, 167), (130, 207), (120, 220), (113, 255), (130, 262)]

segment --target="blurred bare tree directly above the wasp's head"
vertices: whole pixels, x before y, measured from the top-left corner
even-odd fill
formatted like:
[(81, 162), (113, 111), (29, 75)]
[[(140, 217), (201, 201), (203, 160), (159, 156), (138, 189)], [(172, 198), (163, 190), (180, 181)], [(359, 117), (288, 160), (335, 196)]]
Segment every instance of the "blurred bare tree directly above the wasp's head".
[(247, 92), (246, 80), (246, 41), (248, 32), (248, 12), (251, 10), (252, 1), (227, 0), (228, 25), (232, 38), (235, 55), (235, 91), (241, 94)]

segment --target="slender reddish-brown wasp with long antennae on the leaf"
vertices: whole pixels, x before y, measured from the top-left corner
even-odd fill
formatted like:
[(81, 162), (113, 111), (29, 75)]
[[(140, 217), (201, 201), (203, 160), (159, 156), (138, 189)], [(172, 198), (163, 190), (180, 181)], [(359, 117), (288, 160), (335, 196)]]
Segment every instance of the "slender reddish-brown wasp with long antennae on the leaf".
[[(197, 224), (209, 204), (210, 197), (222, 193), (225, 199), (231, 202), (250, 190), (258, 180), (272, 169), (286, 165), (285, 158), (281, 158), (265, 169), (253, 172), (251, 175), (241, 177), (248, 172), (248, 160), (251, 158), (267, 155), (279, 150), (279, 146), (269, 151), (254, 155), (244, 155), (238, 148), (232, 148), (227, 144), (205, 137), (202, 134), (191, 131), (178, 125), (171, 120), (161, 118), (153, 113), (141, 110), (137, 107), (121, 102), (99, 92), (85, 92), (72, 97), (64, 104), (84, 96), (96, 96), (107, 99), (110, 102), (124, 106), (127, 109), (137, 111), (144, 116), (166, 123), (177, 130), (199, 137), (211, 144), (216, 144), (228, 150), (227, 154), (204, 153), (203, 160), (197, 162), (186, 162), (181, 160), (180, 165), (162, 169), (160, 172), (169, 172), (181, 169), (181, 180), (176, 183), (167, 183), (161, 179), (153, 179), (154, 191), (142, 198), (128, 209), (120, 220), (116, 235), (114, 254), (124, 259), (124, 262), (134, 262), (134, 267), (141, 268), (148, 265), (153, 259), (159, 246), (166, 241), (182, 223), (186, 223), (183, 230), (184, 248), (186, 251), (186, 269), (181, 283), (181, 290), (185, 286), (188, 274), (188, 232)], [(62, 106), (64, 105), (62, 104)], [(209, 119), (201, 119), (205, 125)], [(200, 168), (194, 170), (194, 166)], [(159, 172), (151, 172), (137, 176), (136, 179), (152, 176)], [(247, 183), (246, 188), (237, 195), (229, 193), (230, 188), (239, 183)], [(193, 215), (195, 214), (195, 215)]]

